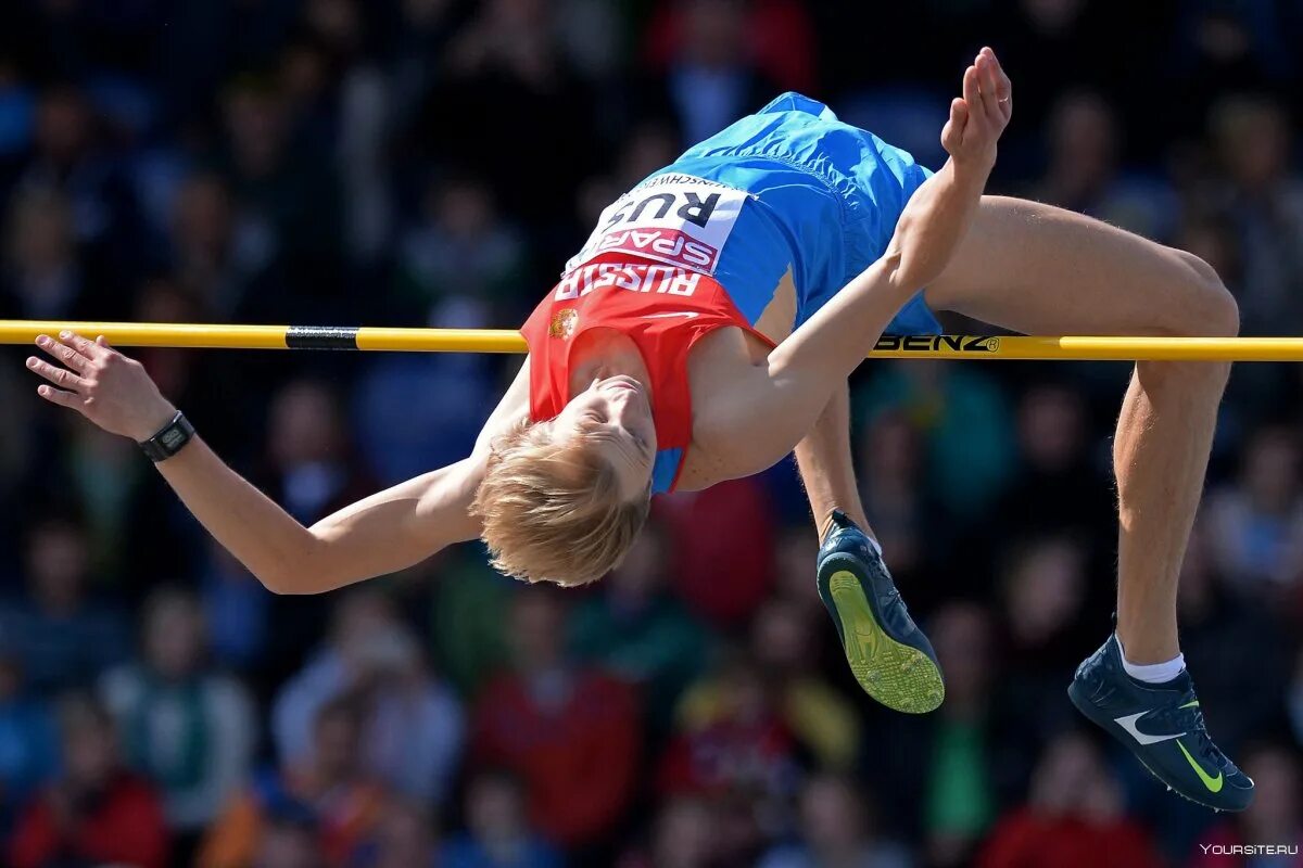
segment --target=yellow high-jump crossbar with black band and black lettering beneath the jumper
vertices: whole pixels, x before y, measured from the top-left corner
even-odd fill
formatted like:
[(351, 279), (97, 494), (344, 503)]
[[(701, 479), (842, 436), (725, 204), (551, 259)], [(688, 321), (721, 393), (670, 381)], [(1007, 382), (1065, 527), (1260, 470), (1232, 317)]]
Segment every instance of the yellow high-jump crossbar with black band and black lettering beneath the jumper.
[[(206, 323), (60, 323), (0, 320), (0, 344), (31, 344), (70, 329), (113, 346), (224, 350), (397, 350), (524, 353), (515, 329), (216, 325)], [(870, 358), (1303, 362), (1303, 337), (984, 337), (883, 336)]]

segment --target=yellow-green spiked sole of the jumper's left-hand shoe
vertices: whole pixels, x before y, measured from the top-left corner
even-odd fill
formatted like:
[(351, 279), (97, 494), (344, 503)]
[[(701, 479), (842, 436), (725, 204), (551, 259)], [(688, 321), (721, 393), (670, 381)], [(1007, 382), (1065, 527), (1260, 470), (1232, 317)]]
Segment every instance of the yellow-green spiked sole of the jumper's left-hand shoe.
[(823, 580), (822, 573), (820, 582), (827, 587), (825, 601), (840, 629), (846, 661), (864, 692), (907, 714), (936, 711), (946, 698), (937, 664), (913, 645), (887, 635), (873, 614), (859, 575), (834, 569)]

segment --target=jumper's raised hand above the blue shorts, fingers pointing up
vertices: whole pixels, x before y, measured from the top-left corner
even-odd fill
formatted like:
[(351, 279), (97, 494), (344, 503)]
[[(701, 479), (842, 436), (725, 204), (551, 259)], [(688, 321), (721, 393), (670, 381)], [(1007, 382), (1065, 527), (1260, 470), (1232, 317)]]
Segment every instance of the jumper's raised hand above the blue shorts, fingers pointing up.
[(982, 48), (964, 70), (964, 95), (950, 103), (941, 144), (958, 167), (990, 170), (995, 142), (1014, 113), (1014, 88), (995, 52)]

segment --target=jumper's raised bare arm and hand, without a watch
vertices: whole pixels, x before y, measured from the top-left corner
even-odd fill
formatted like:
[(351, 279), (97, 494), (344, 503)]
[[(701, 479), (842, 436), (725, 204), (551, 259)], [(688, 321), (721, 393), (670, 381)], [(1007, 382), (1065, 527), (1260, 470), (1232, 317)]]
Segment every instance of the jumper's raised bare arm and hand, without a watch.
[[(769, 466), (791, 450), (896, 311), (941, 275), (977, 211), (1011, 105), (1009, 78), (984, 48), (964, 73), (963, 98), (951, 103), (941, 134), (950, 159), (911, 197), (887, 251), (779, 344), (736, 393), (739, 429), (762, 433), (760, 442), (748, 435), (753, 463)], [(762, 431), (741, 424), (757, 414)]]

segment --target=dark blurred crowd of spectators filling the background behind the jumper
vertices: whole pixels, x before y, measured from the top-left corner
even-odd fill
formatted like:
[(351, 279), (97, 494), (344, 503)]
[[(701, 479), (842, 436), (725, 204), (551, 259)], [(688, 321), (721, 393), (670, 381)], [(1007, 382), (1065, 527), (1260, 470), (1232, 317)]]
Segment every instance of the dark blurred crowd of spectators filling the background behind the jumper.
[[(783, 90), (933, 168), (1010, 72), (993, 189), (1213, 264), (1303, 333), (1299, 0), (5, 0), (0, 318), (512, 327), (597, 212)], [(956, 325), (963, 327), (963, 324)], [(1182, 644), (1257, 782), (1213, 816), (1083, 729), (1122, 364), (873, 363), (863, 496), (947, 675), (859, 692), (795, 470), (658, 501), (611, 576), (478, 545), (276, 597), (0, 353), (0, 864), (1138, 868), (1303, 839), (1303, 376), (1233, 375)], [(460, 458), (494, 357), (142, 350), (304, 522)]]

